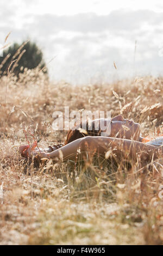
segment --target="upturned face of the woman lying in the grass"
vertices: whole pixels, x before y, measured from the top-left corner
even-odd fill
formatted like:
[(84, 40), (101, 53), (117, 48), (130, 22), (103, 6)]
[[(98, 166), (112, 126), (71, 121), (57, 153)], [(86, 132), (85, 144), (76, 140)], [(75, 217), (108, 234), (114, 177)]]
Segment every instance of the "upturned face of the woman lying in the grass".
[(140, 124), (129, 119), (124, 119), (122, 115), (117, 115), (111, 119), (111, 133), (109, 137), (134, 139), (139, 141)]

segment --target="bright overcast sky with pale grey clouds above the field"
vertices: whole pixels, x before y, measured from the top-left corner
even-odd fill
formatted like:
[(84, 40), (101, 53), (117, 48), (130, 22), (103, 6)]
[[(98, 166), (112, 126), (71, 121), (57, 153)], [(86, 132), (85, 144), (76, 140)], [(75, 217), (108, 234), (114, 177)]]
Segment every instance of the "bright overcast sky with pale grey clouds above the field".
[(52, 80), (162, 75), (161, 1), (0, 0), (0, 8), (1, 44), (10, 31), (8, 42), (36, 41), (47, 63), (55, 57), (48, 64)]

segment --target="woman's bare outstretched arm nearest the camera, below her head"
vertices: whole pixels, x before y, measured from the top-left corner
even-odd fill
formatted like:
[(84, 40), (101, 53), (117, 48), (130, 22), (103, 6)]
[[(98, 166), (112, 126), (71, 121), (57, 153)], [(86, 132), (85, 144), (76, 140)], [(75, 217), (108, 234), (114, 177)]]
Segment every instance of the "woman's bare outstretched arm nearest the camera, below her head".
[(152, 157), (155, 159), (160, 153), (163, 153), (162, 147), (157, 148), (137, 141), (102, 136), (87, 136), (68, 143), (52, 153), (46, 153), (41, 157), (49, 157), (54, 160), (56, 157), (62, 160), (75, 160), (77, 153), (80, 153), (82, 156), (85, 152), (95, 153), (96, 151), (96, 153), (105, 156), (106, 151), (109, 149), (117, 155), (118, 159), (121, 157), (136, 159), (137, 155), (139, 155), (140, 160), (152, 159)]

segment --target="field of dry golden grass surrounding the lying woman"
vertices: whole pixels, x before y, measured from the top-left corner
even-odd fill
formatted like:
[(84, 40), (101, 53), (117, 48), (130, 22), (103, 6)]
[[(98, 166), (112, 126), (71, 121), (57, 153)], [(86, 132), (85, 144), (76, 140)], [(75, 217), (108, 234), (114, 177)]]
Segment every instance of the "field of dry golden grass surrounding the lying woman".
[(143, 136), (163, 133), (163, 78), (74, 88), (36, 69), (18, 81), (3, 76), (0, 87), (1, 245), (163, 244), (163, 159), (35, 169), (18, 153), (27, 139), (40, 147), (64, 141), (66, 132), (52, 129), (64, 106), (122, 113), (141, 123)]

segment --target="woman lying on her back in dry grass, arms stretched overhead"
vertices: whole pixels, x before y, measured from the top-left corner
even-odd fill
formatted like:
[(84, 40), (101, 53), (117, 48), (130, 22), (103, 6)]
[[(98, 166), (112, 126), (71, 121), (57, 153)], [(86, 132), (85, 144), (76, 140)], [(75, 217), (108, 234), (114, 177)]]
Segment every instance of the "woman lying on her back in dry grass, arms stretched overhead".
[[(80, 129), (70, 130), (64, 145), (55, 145), (47, 149), (32, 149), (29, 145), (20, 147), (20, 153), (23, 157), (36, 156), (39, 159), (52, 159), (58, 161), (76, 160), (77, 155), (81, 158), (91, 157), (95, 153), (108, 157), (112, 153), (116, 159), (121, 161), (124, 158), (140, 161), (151, 161), (163, 153), (163, 136), (148, 141), (140, 136), (140, 124), (132, 120), (124, 119), (122, 115), (109, 120), (111, 132), (109, 137), (100, 136), (102, 122), (106, 124), (109, 119), (95, 119), (92, 121), (92, 129), (89, 129), (86, 123), (86, 131)], [(99, 122), (99, 129), (96, 129)], [(104, 132), (104, 131), (103, 131)], [(104, 133), (103, 133), (104, 134)]]

